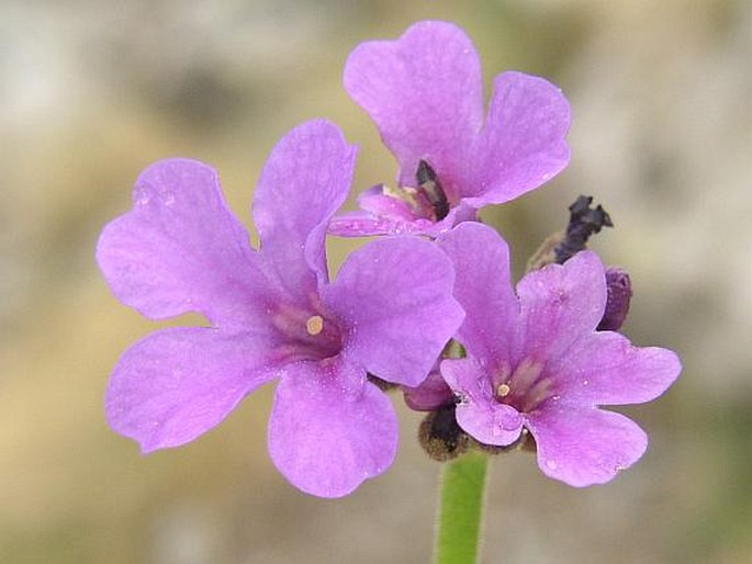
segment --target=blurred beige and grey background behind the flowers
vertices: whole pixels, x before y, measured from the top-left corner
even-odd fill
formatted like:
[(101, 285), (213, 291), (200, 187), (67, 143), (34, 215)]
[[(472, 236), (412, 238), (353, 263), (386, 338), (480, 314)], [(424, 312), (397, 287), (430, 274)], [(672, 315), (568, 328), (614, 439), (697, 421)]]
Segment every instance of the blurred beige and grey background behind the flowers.
[[(747, 0), (0, 0), (0, 562), (429, 561), (439, 467), (397, 396), (394, 466), (334, 501), (273, 469), (272, 386), (181, 449), (143, 458), (113, 433), (110, 371), (160, 324), (117, 303), (93, 260), (165, 157), (213, 163), (249, 226), (266, 155), (311, 117), (360, 145), (356, 190), (391, 180), (341, 69), (359, 42), (422, 19), (463, 26), (486, 83), (542, 75), (572, 103), (570, 167), (485, 214), (516, 273), (594, 195), (616, 228), (593, 248), (635, 284), (624, 332), (684, 361), (665, 396), (624, 409), (651, 448), (613, 483), (579, 490), (531, 455), (493, 461), (484, 562), (752, 562)], [(333, 240), (335, 268), (358, 245)]]

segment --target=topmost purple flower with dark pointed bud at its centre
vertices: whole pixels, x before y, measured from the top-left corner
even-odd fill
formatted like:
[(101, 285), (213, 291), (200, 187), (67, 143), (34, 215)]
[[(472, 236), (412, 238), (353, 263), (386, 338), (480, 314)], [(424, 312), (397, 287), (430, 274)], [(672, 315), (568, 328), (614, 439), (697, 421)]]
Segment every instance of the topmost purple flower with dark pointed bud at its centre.
[(363, 212), (335, 217), (341, 236), (435, 236), (538, 188), (569, 162), (570, 108), (561, 91), (521, 72), (494, 80), (484, 123), (483, 79), (462, 30), (419, 22), (396, 41), (358, 46), (345, 89), (400, 161), (397, 188), (374, 187)]

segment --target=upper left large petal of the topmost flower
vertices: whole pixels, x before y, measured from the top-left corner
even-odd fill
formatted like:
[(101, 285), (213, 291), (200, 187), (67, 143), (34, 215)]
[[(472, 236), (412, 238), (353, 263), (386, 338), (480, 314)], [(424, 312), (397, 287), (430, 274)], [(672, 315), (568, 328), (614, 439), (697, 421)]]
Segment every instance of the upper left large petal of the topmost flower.
[(450, 194), (462, 184), (483, 122), (481, 65), (462, 30), (419, 22), (396, 41), (362, 43), (345, 65), (345, 89), (399, 159), (402, 185), (415, 185), (420, 159)]

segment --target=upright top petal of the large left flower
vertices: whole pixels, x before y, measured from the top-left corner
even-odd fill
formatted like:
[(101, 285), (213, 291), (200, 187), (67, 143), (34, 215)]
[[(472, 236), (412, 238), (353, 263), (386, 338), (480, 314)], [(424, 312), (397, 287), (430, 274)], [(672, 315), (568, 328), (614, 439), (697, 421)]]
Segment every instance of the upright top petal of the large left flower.
[(355, 158), (336, 125), (314, 120), (285, 135), (263, 166), (254, 222), (268, 267), (292, 295), (328, 281), (326, 225), (347, 199)]

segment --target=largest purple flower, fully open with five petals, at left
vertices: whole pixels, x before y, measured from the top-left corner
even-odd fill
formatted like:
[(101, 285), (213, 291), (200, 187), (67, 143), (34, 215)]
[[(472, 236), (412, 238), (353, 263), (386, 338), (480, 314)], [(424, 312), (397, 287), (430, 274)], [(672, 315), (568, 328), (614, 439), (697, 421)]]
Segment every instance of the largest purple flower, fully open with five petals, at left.
[(269, 451), (295, 486), (338, 497), (392, 463), (396, 418), (367, 371), (419, 384), (463, 314), (451, 262), (415, 237), (364, 246), (329, 282), (326, 224), (355, 156), (324, 121), (285, 136), (256, 190), (258, 251), (213, 169), (172, 159), (142, 173), (133, 210), (102, 233), (99, 264), (143, 315), (199, 312), (210, 326), (162, 329), (123, 354), (106, 391), (113, 429), (145, 453), (178, 447), (279, 379)]

